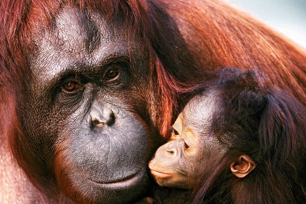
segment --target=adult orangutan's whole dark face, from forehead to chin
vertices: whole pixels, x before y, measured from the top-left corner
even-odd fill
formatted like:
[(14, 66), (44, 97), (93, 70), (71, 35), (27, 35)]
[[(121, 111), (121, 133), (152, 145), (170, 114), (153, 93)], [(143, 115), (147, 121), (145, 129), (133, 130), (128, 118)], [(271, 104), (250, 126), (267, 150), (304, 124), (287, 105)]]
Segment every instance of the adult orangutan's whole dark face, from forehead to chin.
[(63, 8), (28, 53), (32, 77), (19, 103), (32, 146), (24, 160), (72, 200), (123, 203), (145, 190), (150, 133), (136, 110), (148, 95), (148, 65), (133, 39), (128, 50), (120, 23)]

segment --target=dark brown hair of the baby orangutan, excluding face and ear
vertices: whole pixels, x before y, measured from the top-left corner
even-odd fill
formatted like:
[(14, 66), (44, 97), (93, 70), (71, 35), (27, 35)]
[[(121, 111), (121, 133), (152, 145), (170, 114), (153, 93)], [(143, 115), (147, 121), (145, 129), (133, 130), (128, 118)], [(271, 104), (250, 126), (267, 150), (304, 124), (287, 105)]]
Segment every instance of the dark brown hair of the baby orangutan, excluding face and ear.
[[(257, 69), (224, 68), (193, 94), (203, 89), (216, 96), (211, 135), (227, 150), (218, 164), (202, 162), (192, 203), (305, 203), (305, 107)], [(243, 178), (229, 168), (241, 155), (256, 164)]]

